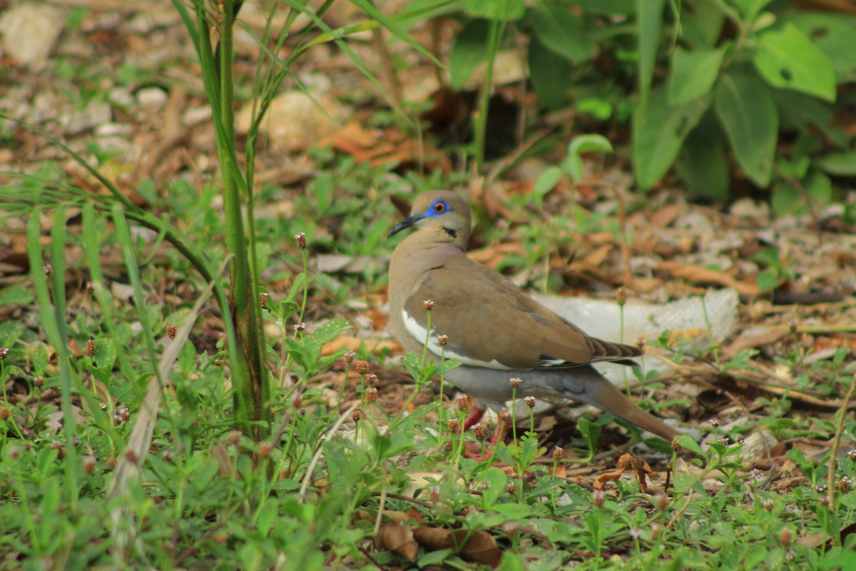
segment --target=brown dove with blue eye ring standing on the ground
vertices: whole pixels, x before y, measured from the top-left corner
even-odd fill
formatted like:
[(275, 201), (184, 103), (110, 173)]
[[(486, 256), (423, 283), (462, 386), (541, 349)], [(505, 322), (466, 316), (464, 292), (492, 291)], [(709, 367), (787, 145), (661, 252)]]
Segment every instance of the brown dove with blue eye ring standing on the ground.
[[(540, 305), (496, 271), (467, 257), (471, 219), (467, 202), (450, 191), (420, 194), (409, 217), (389, 236), (414, 228), (389, 265), (389, 324), (407, 351), (439, 360), (437, 337), (448, 336), (443, 354), (462, 366), (446, 378), (480, 403), (499, 411), (517, 396), (562, 397), (585, 402), (651, 431), (667, 442), (681, 434), (645, 412), (591, 363), (635, 365), (641, 349), (587, 336)], [(431, 307), (431, 332), (425, 300)], [(430, 304), (429, 304), (430, 305)]]

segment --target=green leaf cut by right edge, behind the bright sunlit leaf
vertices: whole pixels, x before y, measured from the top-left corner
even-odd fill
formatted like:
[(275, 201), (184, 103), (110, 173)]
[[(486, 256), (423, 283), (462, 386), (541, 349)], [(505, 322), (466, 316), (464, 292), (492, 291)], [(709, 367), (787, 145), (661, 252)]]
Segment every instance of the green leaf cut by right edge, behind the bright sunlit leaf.
[(856, 17), (800, 12), (788, 21), (829, 57), (839, 84), (856, 81)]

